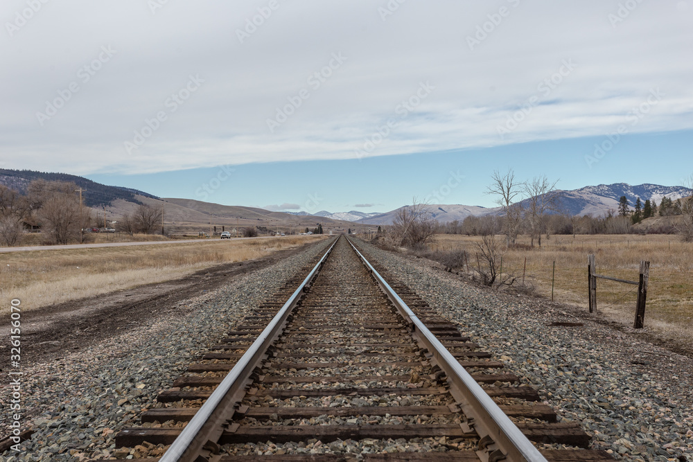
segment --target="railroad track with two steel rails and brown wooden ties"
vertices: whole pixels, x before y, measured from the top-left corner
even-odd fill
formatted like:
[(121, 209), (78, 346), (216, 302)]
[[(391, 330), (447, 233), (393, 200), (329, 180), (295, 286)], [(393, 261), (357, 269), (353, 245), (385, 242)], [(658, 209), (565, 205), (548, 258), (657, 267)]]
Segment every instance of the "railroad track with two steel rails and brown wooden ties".
[(162, 462), (611, 460), (502, 366), (341, 236), (116, 447), (170, 445)]

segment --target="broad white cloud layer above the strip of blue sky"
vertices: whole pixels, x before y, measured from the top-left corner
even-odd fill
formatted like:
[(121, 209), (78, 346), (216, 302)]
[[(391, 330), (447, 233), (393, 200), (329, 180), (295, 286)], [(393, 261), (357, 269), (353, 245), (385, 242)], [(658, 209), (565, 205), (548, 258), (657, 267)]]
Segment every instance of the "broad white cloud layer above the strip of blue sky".
[[(398, 126), (369, 155), (603, 135), (653, 88), (665, 97), (630, 132), (693, 128), (693, 8), (681, 2), (640, 3), (613, 27), (617, 1), (406, 2), (383, 21), (385, 1), (292, 0), (241, 44), (236, 29), (265, 3), (168, 2), (155, 15), (135, 0), (46, 3), (0, 50), (0, 161), (84, 174), (350, 159), (388, 118)], [(0, 17), (23, 5), (3, 4)], [(509, 15), (471, 51), (466, 37), (500, 6)], [(36, 112), (102, 46), (117, 55), (42, 127)], [(333, 53), (347, 60), (315, 89)], [(577, 67), (544, 96), (563, 60)], [(204, 84), (171, 111), (191, 74)], [(426, 81), (435, 90), (401, 118)], [(270, 133), (267, 118), (301, 89), (309, 97)], [(543, 98), (501, 139), (498, 126), (532, 96)], [(128, 154), (123, 143), (162, 110)]]

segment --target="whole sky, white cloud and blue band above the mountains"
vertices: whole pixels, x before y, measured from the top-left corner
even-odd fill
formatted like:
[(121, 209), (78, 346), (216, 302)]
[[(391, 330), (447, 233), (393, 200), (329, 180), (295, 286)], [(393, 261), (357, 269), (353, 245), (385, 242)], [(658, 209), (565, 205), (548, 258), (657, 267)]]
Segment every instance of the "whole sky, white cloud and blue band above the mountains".
[(286, 211), (693, 172), (693, 0), (6, 0), (0, 168)]

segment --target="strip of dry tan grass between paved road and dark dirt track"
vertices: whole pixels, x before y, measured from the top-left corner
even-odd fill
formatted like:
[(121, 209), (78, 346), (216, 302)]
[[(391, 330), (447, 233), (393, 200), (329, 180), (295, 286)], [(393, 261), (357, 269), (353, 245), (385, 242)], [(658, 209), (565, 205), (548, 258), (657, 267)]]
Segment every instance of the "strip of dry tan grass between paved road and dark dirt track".
[(258, 258), (319, 239), (296, 236), (134, 247), (21, 251), (0, 254), (0, 312), (11, 299), (24, 310), (137, 285), (158, 283), (199, 269)]

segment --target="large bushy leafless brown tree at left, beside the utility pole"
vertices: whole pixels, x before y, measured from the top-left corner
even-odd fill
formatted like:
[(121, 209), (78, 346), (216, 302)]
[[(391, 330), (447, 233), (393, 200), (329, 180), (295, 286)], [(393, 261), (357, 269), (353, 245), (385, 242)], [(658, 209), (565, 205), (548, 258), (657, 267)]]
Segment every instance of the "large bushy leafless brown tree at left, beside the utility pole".
[(36, 180), (29, 184), (29, 195), (38, 206), (41, 228), (55, 244), (79, 240), (83, 217), (76, 189), (76, 184), (64, 181)]

